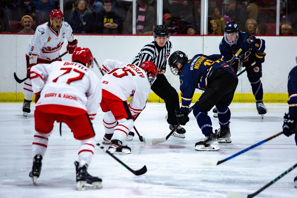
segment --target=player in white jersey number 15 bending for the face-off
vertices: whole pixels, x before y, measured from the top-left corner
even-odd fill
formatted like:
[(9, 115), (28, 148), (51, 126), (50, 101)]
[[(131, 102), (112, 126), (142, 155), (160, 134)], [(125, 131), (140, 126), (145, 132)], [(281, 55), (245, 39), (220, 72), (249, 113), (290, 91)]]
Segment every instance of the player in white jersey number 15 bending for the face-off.
[[(123, 145), (123, 142), (133, 128), (136, 116), (146, 105), (151, 85), (157, 77), (157, 67), (150, 61), (144, 61), (138, 67), (107, 59), (103, 62), (102, 70), (106, 73), (101, 79), (100, 106), (106, 112), (103, 142), (110, 141), (108, 150), (111, 153), (129, 154), (131, 148)], [(128, 104), (129, 97), (132, 99)]]

